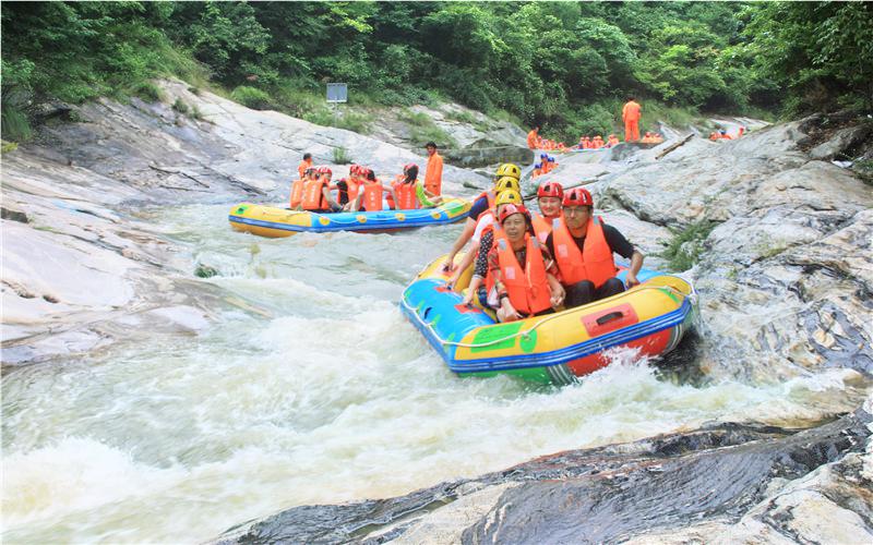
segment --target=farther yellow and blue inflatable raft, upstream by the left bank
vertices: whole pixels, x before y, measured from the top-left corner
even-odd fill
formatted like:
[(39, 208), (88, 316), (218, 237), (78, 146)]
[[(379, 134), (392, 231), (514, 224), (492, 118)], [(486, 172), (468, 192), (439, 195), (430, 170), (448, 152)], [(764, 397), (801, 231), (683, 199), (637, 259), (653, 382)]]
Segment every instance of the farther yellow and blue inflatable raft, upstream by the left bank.
[(452, 197), (435, 208), (330, 214), (241, 203), (230, 209), (228, 220), (238, 231), (276, 238), (297, 232), (387, 232), (439, 226), (466, 218), (469, 209), (469, 202)]

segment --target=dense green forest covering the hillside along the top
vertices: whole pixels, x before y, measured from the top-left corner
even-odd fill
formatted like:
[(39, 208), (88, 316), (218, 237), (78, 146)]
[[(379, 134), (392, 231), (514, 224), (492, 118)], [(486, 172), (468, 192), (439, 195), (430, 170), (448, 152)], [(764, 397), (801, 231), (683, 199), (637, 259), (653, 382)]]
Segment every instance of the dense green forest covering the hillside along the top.
[[(324, 84), (346, 82), (352, 106), (455, 100), (566, 138), (612, 131), (631, 95), (673, 118), (869, 109), (871, 14), (871, 2), (4, 2), (3, 138), (25, 140), (41, 101), (157, 99), (160, 76), (315, 122), (330, 119)], [(360, 121), (345, 120), (366, 132)]]

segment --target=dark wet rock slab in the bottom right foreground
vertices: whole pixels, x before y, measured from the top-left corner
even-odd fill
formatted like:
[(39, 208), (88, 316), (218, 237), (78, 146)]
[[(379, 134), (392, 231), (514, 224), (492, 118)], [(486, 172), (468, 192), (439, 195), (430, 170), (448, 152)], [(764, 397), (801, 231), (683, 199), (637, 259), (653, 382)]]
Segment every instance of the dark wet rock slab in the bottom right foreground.
[[(561, 452), (407, 496), (292, 508), (216, 543), (674, 543), (734, 526), (801, 542), (873, 536), (870, 423), (859, 409), (800, 433), (723, 425)], [(815, 513), (846, 524), (803, 516)]]

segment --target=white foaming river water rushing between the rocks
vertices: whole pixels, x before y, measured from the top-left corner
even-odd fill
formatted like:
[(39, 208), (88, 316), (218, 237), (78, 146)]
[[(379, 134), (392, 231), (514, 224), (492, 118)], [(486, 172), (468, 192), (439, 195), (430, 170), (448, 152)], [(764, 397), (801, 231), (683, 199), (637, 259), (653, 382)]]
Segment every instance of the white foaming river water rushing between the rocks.
[(198, 543), (565, 449), (725, 421), (809, 426), (868, 387), (839, 370), (689, 384), (630, 352), (562, 388), (459, 379), (397, 308), (459, 226), (268, 240), (231, 231), (228, 209), (142, 215), (191, 270), (218, 269), (201, 280), (232, 303), (215, 323), (3, 378), (4, 543)]

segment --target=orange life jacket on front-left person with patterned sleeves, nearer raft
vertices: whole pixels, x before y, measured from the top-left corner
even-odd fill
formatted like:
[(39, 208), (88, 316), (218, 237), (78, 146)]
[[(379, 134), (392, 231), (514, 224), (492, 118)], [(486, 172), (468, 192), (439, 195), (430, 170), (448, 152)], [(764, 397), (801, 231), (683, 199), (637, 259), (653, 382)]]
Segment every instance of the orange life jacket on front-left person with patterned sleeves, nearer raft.
[(500, 275), (513, 308), (529, 315), (551, 307), (549, 280), (539, 241), (525, 233), (527, 253), (525, 268), (522, 270), (510, 241), (504, 235), (498, 235), (502, 230), (500, 226), (494, 226), (494, 243), (498, 247)]

